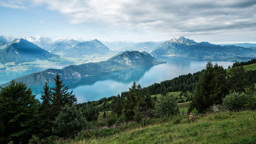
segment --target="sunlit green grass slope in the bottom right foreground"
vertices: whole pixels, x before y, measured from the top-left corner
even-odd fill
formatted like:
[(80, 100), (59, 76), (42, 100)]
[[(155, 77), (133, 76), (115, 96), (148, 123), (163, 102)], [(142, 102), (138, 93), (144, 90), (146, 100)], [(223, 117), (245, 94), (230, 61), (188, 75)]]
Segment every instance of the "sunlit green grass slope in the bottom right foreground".
[(189, 122), (188, 116), (176, 123), (169, 122), (139, 126), (112, 136), (69, 141), (71, 144), (255, 144), (255, 111), (220, 112), (197, 116)]

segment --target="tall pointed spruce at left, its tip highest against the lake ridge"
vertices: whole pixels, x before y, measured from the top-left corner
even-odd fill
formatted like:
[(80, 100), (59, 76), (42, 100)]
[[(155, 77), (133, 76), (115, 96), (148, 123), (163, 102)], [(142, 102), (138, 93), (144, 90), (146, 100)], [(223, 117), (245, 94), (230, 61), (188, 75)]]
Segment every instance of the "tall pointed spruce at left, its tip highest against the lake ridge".
[(61, 107), (68, 104), (72, 106), (72, 104), (76, 104), (77, 100), (73, 93), (73, 91), (68, 92), (68, 86), (63, 84), (62, 80), (60, 80), (60, 76), (57, 74), (55, 80), (55, 87), (51, 88), (52, 90), (52, 104), (54, 109), (54, 116), (58, 116)]

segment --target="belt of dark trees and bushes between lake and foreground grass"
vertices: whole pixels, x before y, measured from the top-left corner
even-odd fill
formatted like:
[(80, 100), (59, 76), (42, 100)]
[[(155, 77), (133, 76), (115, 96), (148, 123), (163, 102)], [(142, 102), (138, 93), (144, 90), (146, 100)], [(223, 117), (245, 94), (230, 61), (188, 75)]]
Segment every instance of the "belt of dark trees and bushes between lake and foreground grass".
[[(68, 92), (68, 86), (58, 74), (53, 88), (44, 84), (41, 103), (26, 84), (12, 80), (0, 90), (0, 143), (51, 143), (60, 137), (81, 135), (74, 134), (87, 126), (90, 132), (82, 130), (81, 138), (115, 134), (124, 130), (127, 124), (147, 124), (154, 118), (176, 115), (179, 112), (178, 97), (192, 100), (189, 110), (199, 113), (206, 112), (213, 104), (222, 104), (228, 110), (256, 109), (255, 77), (256, 70), (245, 71), (239, 63), (227, 72), (209, 61), (201, 72), (146, 88), (134, 82), (121, 96), (82, 104), (76, 104), (76, 97)], [(178, 95), (169, 94), (175, 91)], [(187, 96), (188, 92), (193, 95)], [(102, 129), (107, 117), (113, 129)], [(180, 119), (174, 123), (180, 123)], [(123, 128), (118, 127), (120, 125)]]

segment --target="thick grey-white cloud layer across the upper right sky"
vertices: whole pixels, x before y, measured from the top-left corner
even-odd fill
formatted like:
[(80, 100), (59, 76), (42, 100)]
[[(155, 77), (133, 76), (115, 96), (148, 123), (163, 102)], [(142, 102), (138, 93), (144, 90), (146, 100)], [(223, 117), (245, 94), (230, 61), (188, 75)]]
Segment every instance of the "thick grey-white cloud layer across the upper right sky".
[(32, 0), (70, 17), (71, 24), (106, 22), (116, 29), (210, 34), (256, 28), (256, 0)]

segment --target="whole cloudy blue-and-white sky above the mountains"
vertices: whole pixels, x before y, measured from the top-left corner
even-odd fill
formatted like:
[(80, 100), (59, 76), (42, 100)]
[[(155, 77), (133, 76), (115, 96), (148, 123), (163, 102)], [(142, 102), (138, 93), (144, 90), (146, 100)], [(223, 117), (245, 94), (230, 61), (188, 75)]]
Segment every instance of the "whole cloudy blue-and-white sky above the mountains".
[(256, 0), (0, 0), (0, 35), (256, 43)]

